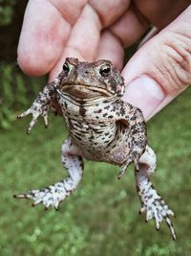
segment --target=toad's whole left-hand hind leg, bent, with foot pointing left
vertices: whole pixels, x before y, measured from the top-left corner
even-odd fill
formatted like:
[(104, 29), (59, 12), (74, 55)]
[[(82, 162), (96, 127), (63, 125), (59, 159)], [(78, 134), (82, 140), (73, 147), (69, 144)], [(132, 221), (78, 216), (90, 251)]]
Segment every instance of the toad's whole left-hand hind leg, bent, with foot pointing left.
[(67, 139), (62, 145), (61, 161), (68, 171), (69, 176), (51, 186), (41, 190), (32, 190), (26, 194), (15, 195), (15, 198), (33, 199), (32, 206), (42, 203), (45, 209), (50, 206), (58, 209), (59, 203), (69, 197), (81, 180), (83, 171), (83, 160), (79, 155), (71, 139)]

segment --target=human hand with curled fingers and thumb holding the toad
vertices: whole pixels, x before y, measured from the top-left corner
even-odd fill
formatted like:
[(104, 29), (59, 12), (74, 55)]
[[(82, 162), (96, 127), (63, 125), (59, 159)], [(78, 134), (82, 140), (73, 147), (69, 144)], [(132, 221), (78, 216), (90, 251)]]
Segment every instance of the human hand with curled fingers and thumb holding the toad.
[(50, 80), (66, 57), (106, 58), (121, 69), (124, 47), (152, 23), (160, 33), (139, 48), (122, 72), (128, 84), (123, 100), (139, 106), (148, 120), (191, 82), (191, 7), (183, 12), (189, 2), (31, 0), (18, 63), (29, 75), (50, 72)]

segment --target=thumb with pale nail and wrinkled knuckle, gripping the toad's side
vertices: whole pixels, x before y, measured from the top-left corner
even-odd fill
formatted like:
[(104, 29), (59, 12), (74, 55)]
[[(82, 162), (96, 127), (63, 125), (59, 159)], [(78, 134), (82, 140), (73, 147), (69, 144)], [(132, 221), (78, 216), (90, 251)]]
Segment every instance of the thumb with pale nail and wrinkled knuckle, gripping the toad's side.
[(124, 67), (123, 101), (149, 120), (191, 83), (191, 6), (146, 42)]

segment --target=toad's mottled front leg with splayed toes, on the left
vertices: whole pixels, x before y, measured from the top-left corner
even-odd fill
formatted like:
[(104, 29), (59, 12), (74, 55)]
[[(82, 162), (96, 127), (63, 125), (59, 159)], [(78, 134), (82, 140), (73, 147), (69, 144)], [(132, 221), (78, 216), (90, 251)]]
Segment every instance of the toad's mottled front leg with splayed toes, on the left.
[(17, 116), (17, 118), (22, 118), (32, 114), (32, 121), (27, 128), (27, 133), (31, 132), (39, 116), (43, 117), (45, 128), (48, 127), (48, 112), (50, 110), (55, 111), (51, 102), (55, 99), (58, 82), (59, 80), (56, 78), (54, 81), (48, 83), (33, 101), (31, 107)]

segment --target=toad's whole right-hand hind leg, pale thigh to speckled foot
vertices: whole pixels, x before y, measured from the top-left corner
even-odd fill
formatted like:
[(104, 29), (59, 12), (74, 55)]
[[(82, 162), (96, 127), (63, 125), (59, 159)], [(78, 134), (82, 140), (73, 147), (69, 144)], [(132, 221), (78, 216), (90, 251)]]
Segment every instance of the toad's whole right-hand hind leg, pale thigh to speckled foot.
[(174, 216), (174, 213), (159, 196), (149, 180), (149, 176), (155, 172), (156, 166), (156, 154), (149, 146), (146, 146), (145, 152), (138, 160), (139, 170), (136, 170), (135, 172), (138, 185), (138, 196), (142, 206), (139, 213), (145, 213), (146, 221), (154, 218), (157, 229), (159, 229), (159, 223), (161, 221), (166, 221), (173, 239), (176, 239), (173, 223), (170, 220), (170, 216)]

